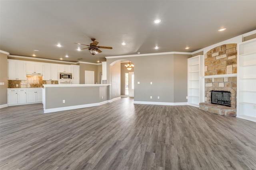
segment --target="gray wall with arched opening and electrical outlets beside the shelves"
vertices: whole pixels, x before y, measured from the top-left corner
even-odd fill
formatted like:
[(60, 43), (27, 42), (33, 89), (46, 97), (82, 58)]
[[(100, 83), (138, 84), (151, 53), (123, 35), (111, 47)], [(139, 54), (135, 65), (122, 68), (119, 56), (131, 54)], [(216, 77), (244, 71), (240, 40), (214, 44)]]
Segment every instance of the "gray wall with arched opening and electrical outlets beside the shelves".
[(128, 60), (134, 63), (134, 101), (187, 102), (188, 57), (191, 55), (164, 54), (107, 59), (107, 77), (111, 76), (111, 63)]

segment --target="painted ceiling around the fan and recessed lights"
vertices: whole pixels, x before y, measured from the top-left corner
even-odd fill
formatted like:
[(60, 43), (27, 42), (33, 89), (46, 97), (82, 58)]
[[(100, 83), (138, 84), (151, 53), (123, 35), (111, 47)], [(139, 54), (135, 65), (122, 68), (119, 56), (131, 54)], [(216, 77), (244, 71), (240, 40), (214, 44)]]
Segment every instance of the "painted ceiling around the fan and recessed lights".
[[(255, 18), (254, 0), (1, 0), (0, 50), (91, 63), (138, 52), (193, 52), (255, 30)], [(76, 50), (74, 42), (89, 45), (90, 38), (113, 49), (95, 56)]]

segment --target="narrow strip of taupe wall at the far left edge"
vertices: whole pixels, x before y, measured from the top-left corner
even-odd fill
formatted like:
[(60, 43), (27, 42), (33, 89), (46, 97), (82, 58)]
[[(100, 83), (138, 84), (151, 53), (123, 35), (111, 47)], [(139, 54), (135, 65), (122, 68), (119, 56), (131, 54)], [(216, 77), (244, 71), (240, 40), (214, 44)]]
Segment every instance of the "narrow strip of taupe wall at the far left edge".
[(8, 62), (7, 55), (0, 53), (0, 82), (4, 85), (0, 85), (0, 105), (7, 104), (7, 88), (8, 88)]

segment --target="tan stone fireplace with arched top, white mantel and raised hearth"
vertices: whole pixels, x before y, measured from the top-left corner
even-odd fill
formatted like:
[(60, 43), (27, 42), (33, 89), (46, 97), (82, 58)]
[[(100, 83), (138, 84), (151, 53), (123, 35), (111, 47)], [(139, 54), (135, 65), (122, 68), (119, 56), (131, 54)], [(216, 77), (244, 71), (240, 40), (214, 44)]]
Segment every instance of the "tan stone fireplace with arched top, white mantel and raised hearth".
[[(236, 44), (211, 49), (204, 55), (205, 102), (199, 109), (218, 115), (236, 116)], [(230, 92), (230, 107), (211, 103), (212, 91)]]

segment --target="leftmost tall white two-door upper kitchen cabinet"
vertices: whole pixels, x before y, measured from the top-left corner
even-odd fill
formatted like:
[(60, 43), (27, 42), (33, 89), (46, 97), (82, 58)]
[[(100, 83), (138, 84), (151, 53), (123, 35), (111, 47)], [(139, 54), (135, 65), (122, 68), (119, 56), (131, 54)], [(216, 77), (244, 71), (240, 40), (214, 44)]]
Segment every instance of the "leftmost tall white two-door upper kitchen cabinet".
[(8, 59), (8, 80), (26, 80), (26, 63)]

